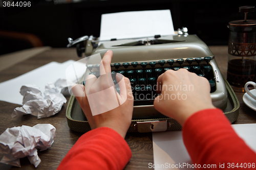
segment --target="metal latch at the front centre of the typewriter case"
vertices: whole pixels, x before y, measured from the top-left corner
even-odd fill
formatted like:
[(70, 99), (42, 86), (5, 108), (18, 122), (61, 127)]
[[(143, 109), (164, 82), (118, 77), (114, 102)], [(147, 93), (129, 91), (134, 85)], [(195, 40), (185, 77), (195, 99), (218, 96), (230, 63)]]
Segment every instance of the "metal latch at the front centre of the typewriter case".
[(155, 120), (148, 122), (137, 122), (134, 129), (140, 133), (145, 132), (162, 132), (167, 130), (167, 120)]

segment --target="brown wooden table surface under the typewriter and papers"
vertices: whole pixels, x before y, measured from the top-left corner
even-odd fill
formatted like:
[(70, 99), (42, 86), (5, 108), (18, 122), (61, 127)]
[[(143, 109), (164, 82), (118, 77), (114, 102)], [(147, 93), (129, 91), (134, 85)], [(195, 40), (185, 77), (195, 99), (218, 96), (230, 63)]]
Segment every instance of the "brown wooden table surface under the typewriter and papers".
[[(215, 55), (216, 61), (224, 77), (227, 70), (227, 46), (209, 46), (212, 53)], [(26, 61), (20, 62), (5, 70), (0, 71), (0, 82), (4, 82), (23, 75), (37, 67), (50, 63), (51, 61), (65, 62), (67, 60), (79, 60), (75, 48), (53, 48), (52, 50), (42, 52)], [(46, 82), (47, 83), (47, 82)], [(240, 115), (234, 124), (252, 124), (256, 123), (256, 113), (248, 108), (243, 100), (243, 94), (236, 92), (240, 102)], [(69, 97), (67, 97), (69, 100)], [(32, 115), (24, 115), (19, 118), (12, 118), (11, 113), (14, 108), (20, 105), (11, 104), (0, 101), (0, 133), (3, 133), (7, 128), (14, 126), (34, 126), (36, 124), (51, 124), (56, 128), (56, 137), (52, 147), (45, 151), (38, 151), (38, 156), (41, 163), (34, 167), (27, 158), (20, 159), (21, 168), (18, 169), (56, 169), (60, 161), (65, 157), (77, 139), (82, 133), (70, 130), (66, 119), (67, 103), (63, 105), (61, 111), (54, 116), (48, 118), (37, 119)], [(154, 163), (153, 160), (153, 144), (152, 133), (128, 133), (125, 140), (132, 150), (132, 159), (126, 165), (125, 169), (148, 169), (148, 163)], [(3, 154), (0, 154), (2, 159)], [(17, 169), (15, 166), (0, 163), (0, 169)]]

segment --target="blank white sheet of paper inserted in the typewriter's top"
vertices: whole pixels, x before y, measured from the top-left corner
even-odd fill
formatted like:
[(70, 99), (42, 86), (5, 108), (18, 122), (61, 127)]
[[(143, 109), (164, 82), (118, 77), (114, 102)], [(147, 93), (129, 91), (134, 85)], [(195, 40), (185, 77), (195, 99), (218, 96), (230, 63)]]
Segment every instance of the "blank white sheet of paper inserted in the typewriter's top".
[(118, 12), (101, 15), (100, 40), (173, 35), (170, 10)]

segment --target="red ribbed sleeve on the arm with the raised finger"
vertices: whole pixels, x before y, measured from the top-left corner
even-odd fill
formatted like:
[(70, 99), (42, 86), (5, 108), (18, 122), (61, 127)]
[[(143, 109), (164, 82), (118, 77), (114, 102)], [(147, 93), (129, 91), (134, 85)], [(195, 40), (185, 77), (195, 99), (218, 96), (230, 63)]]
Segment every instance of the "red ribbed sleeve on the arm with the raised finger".
[(126, 141), (113, 129), (102, 127), (83, 134), (57, 169), (123, 169), (131, 157)]

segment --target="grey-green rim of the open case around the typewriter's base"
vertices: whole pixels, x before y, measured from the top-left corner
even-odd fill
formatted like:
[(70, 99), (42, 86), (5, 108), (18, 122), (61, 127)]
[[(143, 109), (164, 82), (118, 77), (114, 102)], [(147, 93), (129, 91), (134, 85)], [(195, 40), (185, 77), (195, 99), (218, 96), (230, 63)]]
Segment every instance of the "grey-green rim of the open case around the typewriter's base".
[[(236, 94), (234, 93), (233, 89), (227, 82), (225, 78), (223, 78), (225, 81), (225, 85), (228, 91), (228, 99), (231, 102), (232, 109), (229, 111), (224, 112), (223, 114), (228, 118), (230, 123), (233, 123), (234, 121), (237, 120), (239, 116), (239, 108), (240, 104), (238, 101), (238, 98)], [(66, 110), (66, 117), (67, 117), (67, 122), (68, 126), (70, 129), (76, 131), (76, 132), (82, 132), (86, 133), (91, 130), (89, 122), (87, 120), (75, 120), (72, 118), (71, 114), (74, 108), (74, 102), (75, 102), (75, 96), (71, 96), (70, 100), (68, 102), (67, 110)], [(181, 125), (173, 118), (152, 118), (152, 119), (133, 119), (132, 123), (129, 127), (128, 132), (139, 132), (137, 124), (138, 122), (153, 122), (156, 120), (166, 120), (167, 121), (167, 130), (166, 131), (173, 131), (173, 130), (181, 130), (182, 127)], [(143, 131), (142, 131), (143, 132)], [(153, 132), (153, 131), (152, 131)]]

